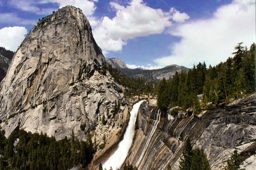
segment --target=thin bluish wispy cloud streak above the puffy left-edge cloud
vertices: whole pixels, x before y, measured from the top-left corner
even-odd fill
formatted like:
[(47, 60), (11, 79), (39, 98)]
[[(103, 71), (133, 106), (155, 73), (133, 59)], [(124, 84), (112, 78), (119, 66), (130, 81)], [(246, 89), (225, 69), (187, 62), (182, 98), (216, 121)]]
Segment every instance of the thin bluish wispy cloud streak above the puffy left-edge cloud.
[(35, 25), (36, 24), (36, 20), (26, 20), (23, 18), (19, 18), (14, 13), (0, 14), (0, 21), (1, 23), (9, 23), (9, 24), (15, 23), (16, 25)]

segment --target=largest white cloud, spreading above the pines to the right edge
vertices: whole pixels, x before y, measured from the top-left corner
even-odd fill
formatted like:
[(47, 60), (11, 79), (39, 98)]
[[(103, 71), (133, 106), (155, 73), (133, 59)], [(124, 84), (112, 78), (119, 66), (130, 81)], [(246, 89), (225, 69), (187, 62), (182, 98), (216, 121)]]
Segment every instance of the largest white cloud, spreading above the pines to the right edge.
[(226, 61), (238, 42), (250, 46), (256, 39), (255, 1), (235, 0), (217, 9), (207, 20), (180, 24), (170, 34), (181, 37), (172, 46), (171, 56), (154, 60), (158, 65), (170, 64), (192, 67), (205, 61), (216, 65)]

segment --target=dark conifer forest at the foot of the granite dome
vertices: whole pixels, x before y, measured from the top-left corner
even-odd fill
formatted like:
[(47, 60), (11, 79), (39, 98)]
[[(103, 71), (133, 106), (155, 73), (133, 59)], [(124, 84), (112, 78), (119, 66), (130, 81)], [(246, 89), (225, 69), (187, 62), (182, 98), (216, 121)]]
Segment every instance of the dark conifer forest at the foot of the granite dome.
[[(14, 147), (14, 141), (19, 139)], [(56, 141), (46, 134), (27, 133), (16, 128), (8, 139), (0, 133), (0, 169), (62, 170), (81, 165), (86, 168), (91, 162), (94, 149), (90, 142), (79, 141), (74, 133)]]

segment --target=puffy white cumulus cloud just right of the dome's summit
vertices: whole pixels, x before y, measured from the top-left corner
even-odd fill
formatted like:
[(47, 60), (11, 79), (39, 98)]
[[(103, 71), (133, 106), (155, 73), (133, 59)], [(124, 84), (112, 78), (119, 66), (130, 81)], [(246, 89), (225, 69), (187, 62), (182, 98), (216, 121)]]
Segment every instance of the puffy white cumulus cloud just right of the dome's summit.
[(93, 30), (96, 42), (105, 52), (121, 50), (128, 39), (162, 33), (172, 24), (169, 12), (150, 8), (142, 0), (132, 0), (126, 6), (115, 2), (110, 5), (116, 16), (105, 16)]

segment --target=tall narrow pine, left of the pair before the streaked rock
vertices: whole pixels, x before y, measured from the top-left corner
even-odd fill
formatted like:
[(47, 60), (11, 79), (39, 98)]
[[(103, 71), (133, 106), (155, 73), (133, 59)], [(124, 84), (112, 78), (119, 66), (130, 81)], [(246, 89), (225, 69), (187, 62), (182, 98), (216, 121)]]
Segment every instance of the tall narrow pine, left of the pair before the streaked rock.
[(179, 170), (189, 170), (191, 167), (192, 156), (193, 156), (193, 146), (191, 145), (190, 139), (187, 138), (185, 146), (183, 147), (183, 158), (179, 162)]

